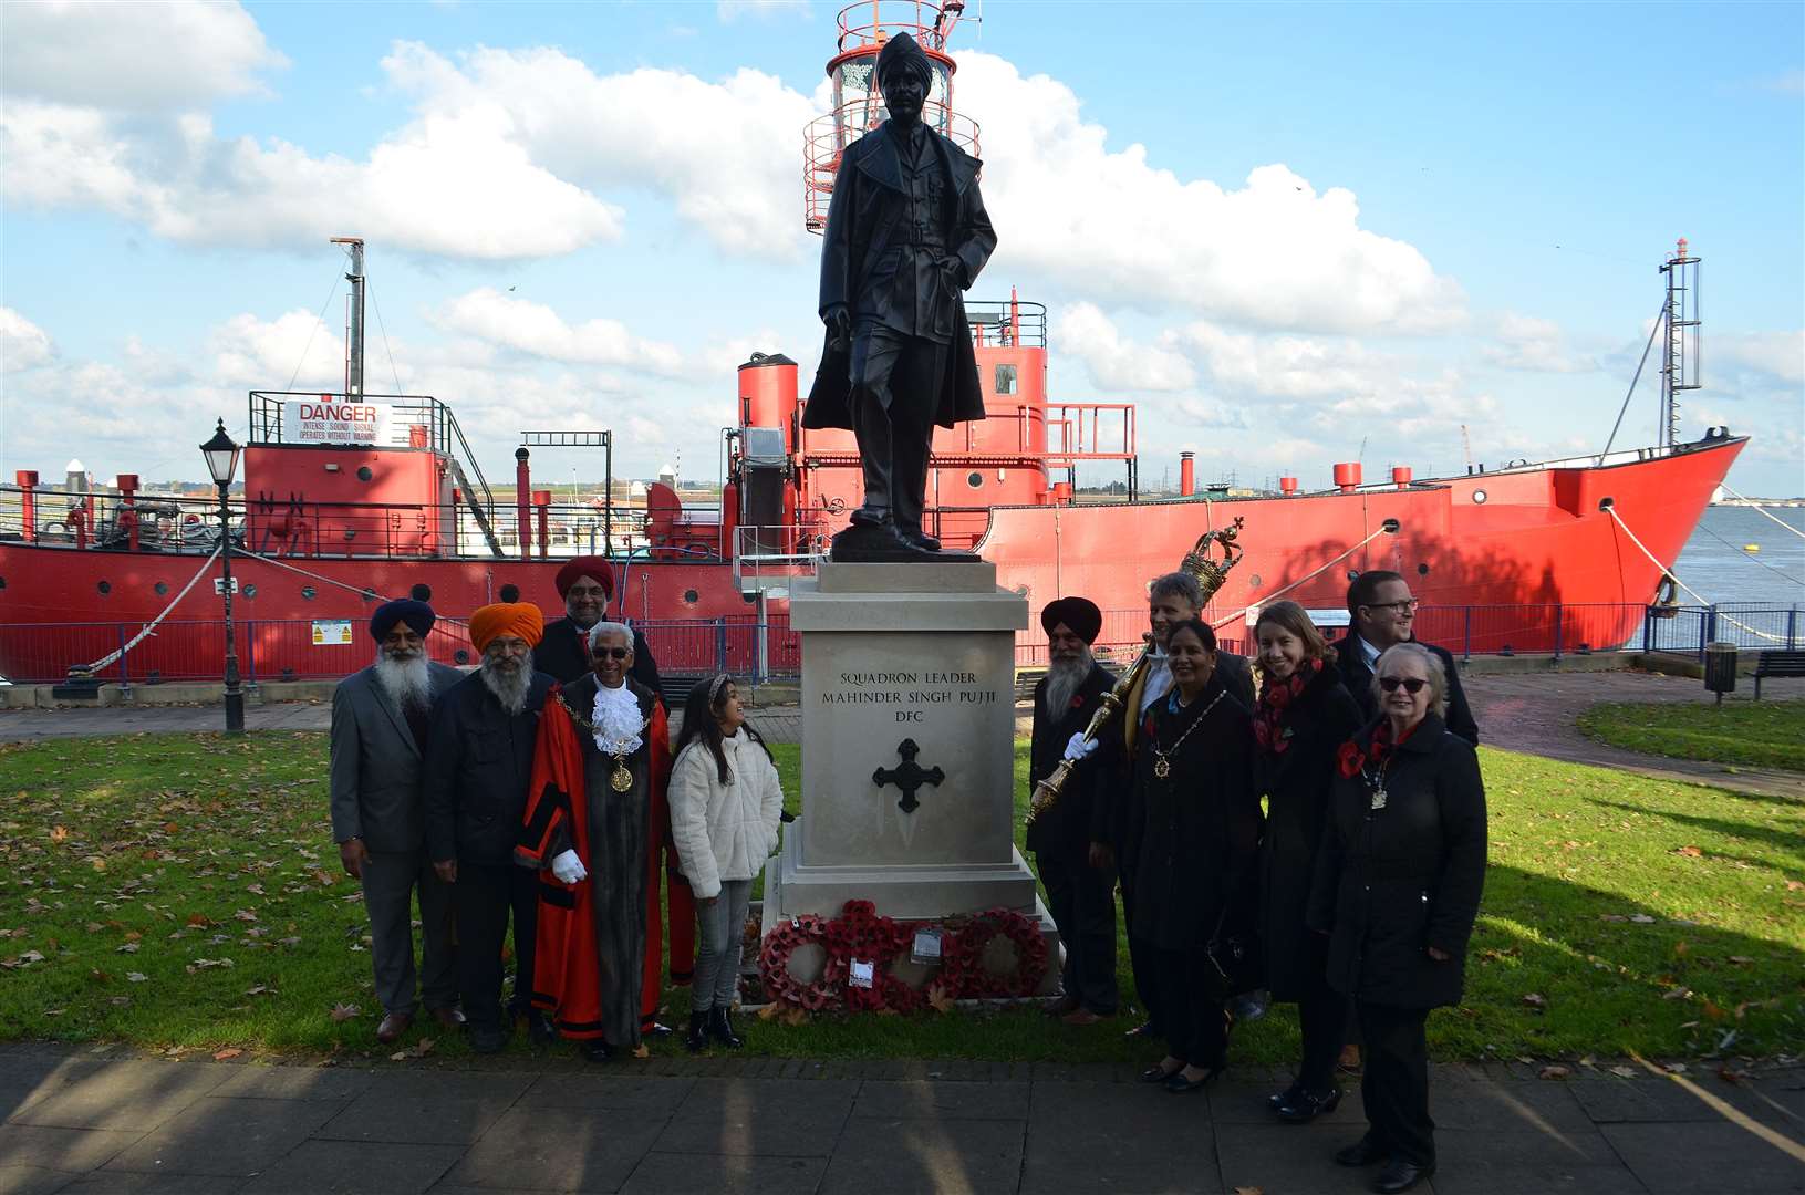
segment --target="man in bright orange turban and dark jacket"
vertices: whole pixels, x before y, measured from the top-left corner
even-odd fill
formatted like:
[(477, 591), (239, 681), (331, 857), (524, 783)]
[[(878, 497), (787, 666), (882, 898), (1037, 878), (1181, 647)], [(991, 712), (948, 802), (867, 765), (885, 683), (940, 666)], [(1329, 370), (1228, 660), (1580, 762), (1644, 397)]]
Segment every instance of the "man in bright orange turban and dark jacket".
[(532, 780), (540, 709), (552, 679), (532, 670), (543, 616), (531, 603), (498, 603), (469, 616), (469, 641), (482, 666), (446, 690), (426, 736), (426, 848), (453, 886), (458, 977), (471, 1047), (493, 1054), (507, 1043), (502, 1020), (502, 942), (514, 919), (514, 996), (532, 1034), (551, 1040), (532, 1011), (532, 946), (540, 877), (514, 865), (514, 845)]

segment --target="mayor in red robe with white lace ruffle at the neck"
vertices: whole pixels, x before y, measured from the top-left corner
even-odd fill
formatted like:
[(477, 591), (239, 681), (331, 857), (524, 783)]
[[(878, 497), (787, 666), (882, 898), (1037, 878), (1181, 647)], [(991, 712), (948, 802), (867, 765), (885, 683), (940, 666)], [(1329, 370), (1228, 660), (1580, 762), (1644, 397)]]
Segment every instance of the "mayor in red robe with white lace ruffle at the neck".
[(596, 672), (552, 690), (514, 857), (540, 870), (532, 1004), (596, 1061), (635, 1051), (662, 980), (657, 852), (670, 726), (632, 681), (632, 632), (599, 623)]

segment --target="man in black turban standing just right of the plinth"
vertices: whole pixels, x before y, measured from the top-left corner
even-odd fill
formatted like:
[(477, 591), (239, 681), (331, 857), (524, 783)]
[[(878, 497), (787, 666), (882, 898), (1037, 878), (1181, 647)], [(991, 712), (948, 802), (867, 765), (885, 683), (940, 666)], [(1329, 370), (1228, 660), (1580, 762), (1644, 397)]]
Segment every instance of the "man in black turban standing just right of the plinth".
[[(1072, 735), (1092, 715), (1115, 679), (1090, 657), (1103, 630), (1103, 612), (1085, 598), (1061, 598), (1040, 612), (1047, 632), (1047, 675), (1034, 686), (1034, 738), (1027, 791), (1051, 776)], [(1072, 774), (1058, 803), (1027, 830), (1029, 850), (1047, 888), (1047, 908), (1060, 926), (1065, 993), (1047, 1013), (1067, 1025), (1094, 1025), (1115, 1013), (1115, 877), (1110, 868), (1108, 805), (1094, 801), (1088, 778)]]

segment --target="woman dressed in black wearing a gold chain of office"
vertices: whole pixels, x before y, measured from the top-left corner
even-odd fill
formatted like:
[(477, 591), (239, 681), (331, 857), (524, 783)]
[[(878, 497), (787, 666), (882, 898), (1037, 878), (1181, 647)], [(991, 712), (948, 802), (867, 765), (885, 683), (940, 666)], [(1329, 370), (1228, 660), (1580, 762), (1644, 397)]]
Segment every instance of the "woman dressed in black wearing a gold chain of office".
[(1197, 619), (1179, 623), (1166, 659), (1173, 688), (1148, 708), (1135, 753), (1132, 928), (1153, 948), (1152, 1013), (1166, 1033), (1166, 1056), (1141, 1078), (1191, 1094), (1227, 1061), (1226, 977), (1209, 946), (1251, 921), (1260, 798), (1253, 727), (1215, 675), (1215, 632)]

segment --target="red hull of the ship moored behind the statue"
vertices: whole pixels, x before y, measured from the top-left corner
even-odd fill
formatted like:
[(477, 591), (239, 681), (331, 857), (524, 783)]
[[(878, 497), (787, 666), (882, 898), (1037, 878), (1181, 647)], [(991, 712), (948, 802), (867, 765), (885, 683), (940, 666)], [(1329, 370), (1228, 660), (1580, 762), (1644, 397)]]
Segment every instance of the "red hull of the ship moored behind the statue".
[[(1000, 585), (1034, 607), (1065, 594), (1090, 598), (1108, 612), (1105, 643), (1134, 643), (1146, 581), (1177, 569), (1199, 534), (1240, 518), (1245, 560), (1217, 594), (1213, 619), (1233, 619), (1278, 596), (1312, 610), (1339, 610), (1352, 572), (1392, 569), (1422, 599), (1424, 639), (1464, 653), (1605, 650), (1635, 632), (1662, 569), (1679, 556), (1744, 444), (1706, 440), (1615, 464), (1523, 468), (1399, 489), (969, 514), (987, 520), (980, 551), (996, 563)], [(1617, 518), (1601, 509), (1606, 498)], [(1383, 531), (1388, 520), (1395, 520), (1395, 533)], [(1635, 547), (1626, 529), (1661, 563)], [(560, 563), (316, 556), (269, 563), (235, 556), (235, 617), (256, 677), (345, 675), (370, 659), (363, 623), (381, 596), (428, 585), (439, 610), (464, 616), (495, 601), (504, 585), (516, 585), (525, 601), (556, 612), (561, 601), (552, 576)], [(675, 672), (722, 661), (738, 670), (794, 662), (789, 635), (765, 639), (760, 657), (760, 619), (782, 626), (785, 603), (742, 594), (731, 563), (635, 560), (617, 567), (623, 585), (612, 612), (664, 625), (655, 635), (661, 666), (666, 659)], [(0, 543), (0, 675), (51, 681), (72, 664), (105, 657), (162, 612), (199, 569), (202, 558), (191, 554)], [(218, 563), (208, 572), (217, 578)], [(1507, 614), (1507, 607), (1516, 612)], [(1541, 614), (1525, 616), (1525, 607)], [(218, 675), (218, 617), (217, 587), (202, 579), (157, 635), (135, 646), (125, 666), (103, 670), (103, 679)], [(352, 643), (336, 641), (334, 632), (343, 634), (336, 621), (352, 623)], [(437, 653), (457, 659), (462, 650), (467, 659), (460, 630), (446, 630), (435, 635)], [(1236, 644), (1245, 623), (1229, 621), (1222, 634)], [(240, 644), (242, 655), (245, 650)]]

